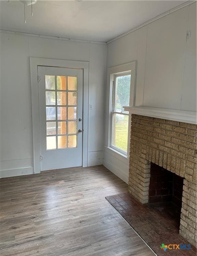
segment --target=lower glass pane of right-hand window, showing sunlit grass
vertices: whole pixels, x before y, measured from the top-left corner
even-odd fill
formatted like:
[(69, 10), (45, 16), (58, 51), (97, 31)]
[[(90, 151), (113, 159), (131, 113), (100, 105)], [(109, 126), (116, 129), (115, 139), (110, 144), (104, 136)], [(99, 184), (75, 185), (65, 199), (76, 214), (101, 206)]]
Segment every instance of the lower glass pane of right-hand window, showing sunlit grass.
[(111, 144), (127, 152), (129, 116), (113, 114)]

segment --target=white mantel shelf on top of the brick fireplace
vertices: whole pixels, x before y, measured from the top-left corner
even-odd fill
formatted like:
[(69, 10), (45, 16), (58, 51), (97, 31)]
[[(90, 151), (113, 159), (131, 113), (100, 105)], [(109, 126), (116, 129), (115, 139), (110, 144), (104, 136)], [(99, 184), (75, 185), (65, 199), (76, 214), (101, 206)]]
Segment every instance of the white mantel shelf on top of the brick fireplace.
[(189, 124), (197, 124), (196, 112), (176, 110), (168, 108), (156, 108), (156, 107), (143, 107), (143, 106), (130, 106), (124, 107), (124, 110), (129, 111), (131, 114), (150, 116), (161, 119), (173, 120)]

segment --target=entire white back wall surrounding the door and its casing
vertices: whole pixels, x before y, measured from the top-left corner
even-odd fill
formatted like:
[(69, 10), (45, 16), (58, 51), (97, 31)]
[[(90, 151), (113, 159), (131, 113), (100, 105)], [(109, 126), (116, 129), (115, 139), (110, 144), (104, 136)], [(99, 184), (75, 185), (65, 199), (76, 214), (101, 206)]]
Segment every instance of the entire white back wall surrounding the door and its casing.
[(0, 33), (0, 176), (33, 171), (29, 57), (90, 62), (88, 165), (102, 164), (106, 45)]

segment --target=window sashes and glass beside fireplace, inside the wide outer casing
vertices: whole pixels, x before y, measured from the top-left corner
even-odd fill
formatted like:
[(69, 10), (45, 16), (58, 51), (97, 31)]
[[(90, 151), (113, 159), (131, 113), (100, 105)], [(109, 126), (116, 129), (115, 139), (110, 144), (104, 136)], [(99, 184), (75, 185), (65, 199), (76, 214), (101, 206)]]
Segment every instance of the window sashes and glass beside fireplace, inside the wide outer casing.
[(111, 139), (110, 147), (127, 154), (131, 71), (111, 74)]

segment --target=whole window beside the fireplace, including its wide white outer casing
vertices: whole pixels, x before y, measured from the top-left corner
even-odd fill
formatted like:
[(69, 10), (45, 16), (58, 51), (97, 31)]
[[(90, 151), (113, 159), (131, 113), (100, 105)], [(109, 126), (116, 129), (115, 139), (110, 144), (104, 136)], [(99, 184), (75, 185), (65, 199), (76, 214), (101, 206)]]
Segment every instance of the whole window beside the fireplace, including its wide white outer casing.
[(135, 106), (136, 64), (132, 61), (107, 70), (105, 149), (125, 163), (130, 153), (131, 115), (124, 106)]

